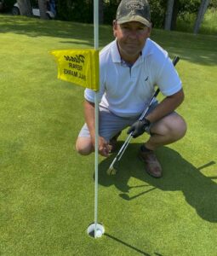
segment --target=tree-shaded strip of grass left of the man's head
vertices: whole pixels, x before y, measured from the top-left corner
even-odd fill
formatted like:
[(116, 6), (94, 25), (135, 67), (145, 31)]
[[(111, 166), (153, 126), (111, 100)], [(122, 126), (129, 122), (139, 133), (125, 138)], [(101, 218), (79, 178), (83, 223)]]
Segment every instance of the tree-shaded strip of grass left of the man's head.
[[(60, 38), (62, 44), (85, 44), (90, 47), (94, 45), (94, 25), (85, 23), (0, 15), (0, 32), (13, 32), (32, 38), (43, 36)], [(105, 42), (111, 40), (111, 38), (111, 26), (100, 26), (99, 44), (104, 46)]]

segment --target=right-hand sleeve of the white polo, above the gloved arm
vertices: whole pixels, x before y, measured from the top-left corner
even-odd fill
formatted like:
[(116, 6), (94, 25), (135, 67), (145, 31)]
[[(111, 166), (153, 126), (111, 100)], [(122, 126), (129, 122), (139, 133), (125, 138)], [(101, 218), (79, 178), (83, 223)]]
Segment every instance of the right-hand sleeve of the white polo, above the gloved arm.
[(179, 74), (168, 57), (165, 58), (163, 67), (157, 75), (157, 85), (163, 96), (171, 96), (182, 88)]

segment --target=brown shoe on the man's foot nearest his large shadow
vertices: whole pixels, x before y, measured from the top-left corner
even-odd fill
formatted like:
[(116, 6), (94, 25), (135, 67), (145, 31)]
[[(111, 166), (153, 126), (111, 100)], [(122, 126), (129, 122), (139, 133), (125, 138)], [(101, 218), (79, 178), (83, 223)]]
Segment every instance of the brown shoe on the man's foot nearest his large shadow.
[(146, 172), (152, 177), (162, 177), (162, 167), (157, 160), (154, 151), (142, 152), (139, 153), (140, 160), (145, 162)]

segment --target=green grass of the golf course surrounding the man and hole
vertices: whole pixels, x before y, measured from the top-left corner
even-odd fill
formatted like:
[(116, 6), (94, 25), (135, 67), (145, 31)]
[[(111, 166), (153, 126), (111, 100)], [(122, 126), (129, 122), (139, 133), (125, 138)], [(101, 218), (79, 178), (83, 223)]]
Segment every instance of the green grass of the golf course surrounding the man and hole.
[[(83, 88), (57, 80), (52, 49), (93, 47), (93, 26), (0, 15), (0, 254), (216, 255), (217, 38), (154, 30), (180, 55), (186, 137), (159, 148), (163, 178), (146, 175), (135, 139), (116, 177), (100, 157), (99, 220), (94, 221), (94, 154), (74, 144), (83, 125)], [(112, 39), (100, 27), (100, 47)], [(126, 138), (123, 132), (121, 143)], [(120, 144), (121, 144), (120, 143)]]

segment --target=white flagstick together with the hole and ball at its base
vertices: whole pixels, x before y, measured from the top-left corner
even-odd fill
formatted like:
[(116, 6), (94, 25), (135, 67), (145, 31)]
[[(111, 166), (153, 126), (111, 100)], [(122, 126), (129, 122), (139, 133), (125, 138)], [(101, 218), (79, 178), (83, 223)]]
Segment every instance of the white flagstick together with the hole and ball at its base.
[[(99, 0), (94, 0), (94, 49), (99, 49)], [(98, 224), (98, 143), (99, 143), (99, 91), (94, 96), (95, 115), (95, 187), (94, 187), (94, 224), (90, 224), (88, 233), (94, 238), (98, 238), (105, 232), (104, 227)], [(94, 231), (94, 234), (93, 234)]]

